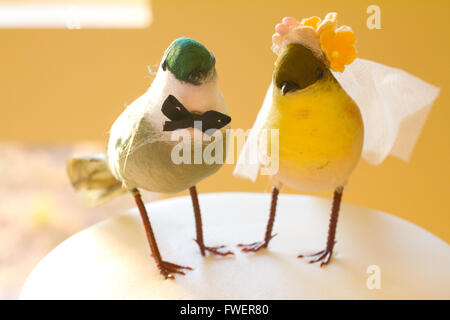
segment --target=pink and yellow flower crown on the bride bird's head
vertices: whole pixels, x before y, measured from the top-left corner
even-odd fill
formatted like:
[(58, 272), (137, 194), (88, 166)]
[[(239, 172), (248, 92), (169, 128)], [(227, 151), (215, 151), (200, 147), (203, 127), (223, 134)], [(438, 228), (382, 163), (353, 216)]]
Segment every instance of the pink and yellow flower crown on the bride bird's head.
[(321, 20), (310, 17), (298, 21), (286, 17), (276, 25), (272, 36), (272, 50), (280, 54), (289, 43), (301, 43), (309, 47), (333, 71), (343, 72), (357, 57), (353, 30), (349, 26), (337, 28), (337, 13), (330, 12)]

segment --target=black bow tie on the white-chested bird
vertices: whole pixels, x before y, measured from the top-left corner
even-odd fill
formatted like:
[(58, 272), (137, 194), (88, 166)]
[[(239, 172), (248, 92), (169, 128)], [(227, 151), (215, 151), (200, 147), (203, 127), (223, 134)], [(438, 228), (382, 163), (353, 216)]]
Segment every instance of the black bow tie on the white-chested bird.
[(231, 118), (217, 111), (206, 111), (203, 114), (189, 112), (173, 95), (169, 95), (161, 107), (162, 113), (170, 119), (164, 123), (164, 131), (193, 128), (194, 121), (202, 122), (202, 131), (220, 129), (230, 123)]

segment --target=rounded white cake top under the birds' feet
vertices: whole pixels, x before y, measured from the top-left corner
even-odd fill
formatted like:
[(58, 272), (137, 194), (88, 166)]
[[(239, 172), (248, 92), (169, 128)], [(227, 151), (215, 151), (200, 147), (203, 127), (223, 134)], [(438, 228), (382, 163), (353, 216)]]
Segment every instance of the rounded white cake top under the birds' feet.
[[(136, 209), (63, 242), (29, 276), (22, 299), (449, 299), (449, 245), (389, 214), (343, 204), (335, 255), (320, 268), (296, 256), (323, 249), (331, 201), (281, 195), (269, 249), (262, 240), (269, 194), (200, 195), (205, 242), (234, 257), (202, 258), (189, 197), (147, 205), (165, 260), (194, 268), (164, 280)], [(88, 209), (86, 209), (88, 210)]]

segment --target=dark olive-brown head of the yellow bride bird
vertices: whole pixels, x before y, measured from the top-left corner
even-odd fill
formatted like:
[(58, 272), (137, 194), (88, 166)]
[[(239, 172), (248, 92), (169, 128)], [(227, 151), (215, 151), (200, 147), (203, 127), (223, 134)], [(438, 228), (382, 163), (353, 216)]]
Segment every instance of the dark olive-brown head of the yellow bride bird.
[(275, 63), (273, 80), (283, 95), (305, 89), (331, 75), (325, 63), (309, 48), (291, 43)]

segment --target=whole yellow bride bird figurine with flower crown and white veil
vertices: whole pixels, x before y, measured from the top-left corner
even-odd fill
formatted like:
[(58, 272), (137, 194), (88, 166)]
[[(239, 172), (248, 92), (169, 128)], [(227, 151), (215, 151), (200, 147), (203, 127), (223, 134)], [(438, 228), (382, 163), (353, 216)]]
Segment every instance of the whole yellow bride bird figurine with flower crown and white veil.
[(261, 148), (270, 146), (270, 130), (278, 130), (279, 145), (268, 153), (279, 168), (271, 173), (264, 240), (240, 244), (244, 252), (268, 247), (283, 185), (307, 192), (333, 189), (325, 249), (309, 256), (311, 263), (328, 264), (343, 190), (361, 155), (373, 164), (389, 153), (407, 159), (439, 93), (404, 71), (356, 59), (352, 29), (337, 28), (336, 17), (284, 18), (276, 26), (272, 82), (234, 174), (255, 180), (260, 166), (268, 165)]

